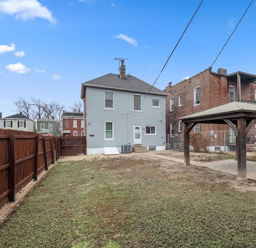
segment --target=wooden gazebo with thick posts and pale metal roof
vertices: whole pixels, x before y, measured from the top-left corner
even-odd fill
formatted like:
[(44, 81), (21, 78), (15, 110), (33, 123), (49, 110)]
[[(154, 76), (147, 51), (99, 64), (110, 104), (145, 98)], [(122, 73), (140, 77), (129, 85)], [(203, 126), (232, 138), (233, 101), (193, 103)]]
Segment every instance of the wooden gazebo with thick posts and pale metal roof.
[(246, 177), (246, 135), (256, 122), (256, 105), (246, 102), (229, 102), (195, 114), (180, 118), (184, 130), (184, 162), (190, 165), (189, 133), (198, 123), (228, 124), (236, 135), (236, 155), (238, 179), (247, 181)]

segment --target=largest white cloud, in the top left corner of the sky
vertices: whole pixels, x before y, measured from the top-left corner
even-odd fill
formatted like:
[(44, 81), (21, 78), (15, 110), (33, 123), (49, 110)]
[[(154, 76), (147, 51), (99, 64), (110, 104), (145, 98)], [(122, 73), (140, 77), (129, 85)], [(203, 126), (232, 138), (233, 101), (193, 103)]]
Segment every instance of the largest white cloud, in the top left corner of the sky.
[(0, 1), (0, 12), (8, 15), (16, 15), (15, 19), (44, 18), (55, 22), (52, 12), (37, 0), (2, 0)]

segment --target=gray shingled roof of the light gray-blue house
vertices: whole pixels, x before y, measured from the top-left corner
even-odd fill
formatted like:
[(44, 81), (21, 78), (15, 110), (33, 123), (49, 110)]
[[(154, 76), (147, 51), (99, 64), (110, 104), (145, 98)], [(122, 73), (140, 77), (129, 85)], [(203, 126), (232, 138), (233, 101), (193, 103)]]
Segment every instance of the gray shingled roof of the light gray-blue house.
[(132, 91), (132, 92), (141, 92), (141, 93), (148, 93), (148, 91), (150, 90), (149, 92), (150, 94), (157, 94), (157, 95), (163, 95), (163, 96), (168, 95), (162, 90), (159, 90), (154, 86), (152, 87), (152, 85), (130, 74), (127, 74), (125, 78), (121, 79), (119, 74), (109, 73), (99, 78), (95, 78), (93, 80), (84, 82), (81, 88), (82, 99), (84, 98), (85, 86)]

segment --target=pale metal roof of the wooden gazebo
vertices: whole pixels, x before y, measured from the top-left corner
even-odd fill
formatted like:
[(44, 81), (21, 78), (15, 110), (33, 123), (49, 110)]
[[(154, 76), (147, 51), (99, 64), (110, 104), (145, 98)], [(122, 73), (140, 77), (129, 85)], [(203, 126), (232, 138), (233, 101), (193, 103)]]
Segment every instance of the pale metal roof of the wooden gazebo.
[(201, 112), (197, 112), (194, 114), (190, 114), (188, 116), (181, 117), (180, 120), (192, 120), (196, 118), (206, 118), (210, 116), (214, 118), (214, 116), (220, 116), (222, 114), (226, 114), (228, 117), (231, 114), (238, 112), (255, 112), (256, 113), (256, 104), (250, 104), (246, 102), (228, 102), (226, 104), (222, 104), (220, 106), (210, 108)]

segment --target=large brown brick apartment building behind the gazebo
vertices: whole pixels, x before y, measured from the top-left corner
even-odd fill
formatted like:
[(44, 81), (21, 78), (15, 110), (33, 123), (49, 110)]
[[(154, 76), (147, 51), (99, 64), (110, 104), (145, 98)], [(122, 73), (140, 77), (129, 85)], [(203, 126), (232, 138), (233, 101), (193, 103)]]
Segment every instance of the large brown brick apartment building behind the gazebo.
[[(164, 91), (168, 93), (166, 96), (166, 134), (170, 134), (170, 140), (174, 138), (173, 140), (177, 141), (176, 137), (179, 136), (181, 140), (182, 135), (179, 134), (184, 131), (180, 117), (230, 101), (256, 104), (256, 75), (244, 72), (227, 75), (226, 69), (220, 68), (216, 73), (212, 72), (212, 68), (207, 68), (174, 86), (170, 82)], [(229, 131), (230, 128), (224, 124), (197, 124), (194, 127), (194, 132), (209, 132), (208, 135), (212, 136), (212, 145), (220, 144), (220, 146), (223, 145), (224, 138), (217, 134), (222, 130)], [(234, 137), (230, 130), (230, 137), (225, 139), (234, 143)], [(171, 143), (171, 141), (166, 142)]]

